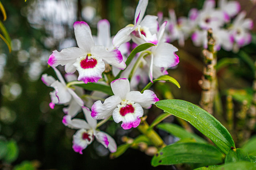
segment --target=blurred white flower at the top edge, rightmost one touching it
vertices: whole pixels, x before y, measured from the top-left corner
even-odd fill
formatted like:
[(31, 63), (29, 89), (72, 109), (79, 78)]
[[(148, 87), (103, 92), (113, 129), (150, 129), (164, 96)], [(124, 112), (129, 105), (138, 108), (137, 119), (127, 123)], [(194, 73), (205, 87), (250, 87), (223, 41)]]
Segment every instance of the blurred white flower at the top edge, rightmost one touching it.
[(227, 0), (219, 0), (218, 6), (222, 11), (226, 12), (227, 15), (233, 17), (237, 15), (240, 11), (241, 6), (238, 1), (227, 1)]

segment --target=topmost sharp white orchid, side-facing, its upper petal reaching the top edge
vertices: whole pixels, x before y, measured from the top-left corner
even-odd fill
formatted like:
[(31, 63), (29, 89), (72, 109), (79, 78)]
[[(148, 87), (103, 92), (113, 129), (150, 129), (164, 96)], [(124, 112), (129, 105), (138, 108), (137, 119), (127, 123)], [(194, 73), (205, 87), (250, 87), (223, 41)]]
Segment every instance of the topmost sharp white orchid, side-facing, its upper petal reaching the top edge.
[(138, 6), (135, 11), (134, 24), (129, 24), (125, 28), (117, 32), (113, 38), (113, 46), (118, 48), (121, 44), (133, 40), (136, 44), (135, 37), (146, 41), (147, 43), (157, 44), (157, 30), (158, 22), (157, 16), (146, 15), (142, 20), (148, 0), (139, 0)]

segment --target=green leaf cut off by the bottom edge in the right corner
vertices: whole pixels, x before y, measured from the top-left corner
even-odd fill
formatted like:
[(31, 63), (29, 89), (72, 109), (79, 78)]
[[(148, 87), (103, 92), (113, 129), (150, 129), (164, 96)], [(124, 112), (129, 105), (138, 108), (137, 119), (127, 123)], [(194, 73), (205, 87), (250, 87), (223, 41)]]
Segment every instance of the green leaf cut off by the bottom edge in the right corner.
[(255, 170), (256, 164), (252, 162), (232, 162), (218, 166), (216, 170)]

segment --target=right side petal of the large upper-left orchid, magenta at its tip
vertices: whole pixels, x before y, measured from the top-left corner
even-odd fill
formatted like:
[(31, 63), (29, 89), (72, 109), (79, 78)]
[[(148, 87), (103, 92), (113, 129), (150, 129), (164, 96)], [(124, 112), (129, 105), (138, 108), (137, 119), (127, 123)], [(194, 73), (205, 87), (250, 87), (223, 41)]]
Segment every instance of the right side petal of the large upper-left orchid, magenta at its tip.
[(122, 70), (126, 67), (123, 62), (123, 56), (118, 49), (107, 51), (104, 46), (94, 46), (91, 48), (91, 54), (103, 59), (106, 63), (111, 64), (114, 67), (118, 67)]

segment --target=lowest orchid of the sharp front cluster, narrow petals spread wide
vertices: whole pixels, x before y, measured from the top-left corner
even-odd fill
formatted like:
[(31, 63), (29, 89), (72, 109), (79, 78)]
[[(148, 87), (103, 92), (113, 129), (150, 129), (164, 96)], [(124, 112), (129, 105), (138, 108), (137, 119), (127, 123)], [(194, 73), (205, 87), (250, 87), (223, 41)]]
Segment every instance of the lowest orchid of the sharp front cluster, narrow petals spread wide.
[(70, 115), (65, 115), (62, 119), (65, 126), (72, 129), (78, 129), (78, 131), (73, 135), (72, 148), (74, 151), (83, 154), (82, 150), (86, 149), (86, 147), (93, 142), (95, 137), (96, 140), (108, 148), (110, 152), (116, 152), (117, 146), (114, 139), (110, 137), (110, 135), (96, 130), (97, 120), (91, 117), (90, 109), (82, 107), (82, 110), (87, 122), (82, 119), (71, 119), (72, 117)]

